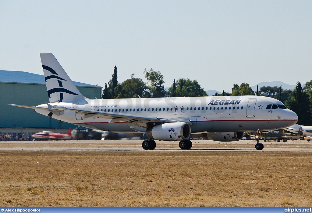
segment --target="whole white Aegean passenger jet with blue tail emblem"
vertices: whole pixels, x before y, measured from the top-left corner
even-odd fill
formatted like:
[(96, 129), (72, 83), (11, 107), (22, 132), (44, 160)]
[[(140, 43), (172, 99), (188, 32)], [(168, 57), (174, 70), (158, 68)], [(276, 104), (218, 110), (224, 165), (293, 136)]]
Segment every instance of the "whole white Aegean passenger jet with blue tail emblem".
[[(142, 132), (142, 147), (153, 150), (162, 141), (180, 141), (190, 149), (191, 134), (206, 139), (240, 140), (244, 131), (289, 127), (298, 116), (280, 101), (263, 96), (212, 96), (100, 99), (85, 98), (52, 53), (40, 53), (50, 103), (13, 106), (83, 127), (110, 132)], [(257, 150), (263, 144), (256, 144)]]

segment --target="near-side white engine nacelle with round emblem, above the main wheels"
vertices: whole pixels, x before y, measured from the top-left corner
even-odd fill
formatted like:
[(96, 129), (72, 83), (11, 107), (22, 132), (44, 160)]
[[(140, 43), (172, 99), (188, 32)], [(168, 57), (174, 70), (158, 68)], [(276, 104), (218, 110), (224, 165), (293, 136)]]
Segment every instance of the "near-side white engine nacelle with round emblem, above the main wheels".
[(187, 123), (164, 123), (155, 127), (149, 127), (146, 135), (150, 139), (159, 141), (187, 140), (191, 135), (191, 127)]

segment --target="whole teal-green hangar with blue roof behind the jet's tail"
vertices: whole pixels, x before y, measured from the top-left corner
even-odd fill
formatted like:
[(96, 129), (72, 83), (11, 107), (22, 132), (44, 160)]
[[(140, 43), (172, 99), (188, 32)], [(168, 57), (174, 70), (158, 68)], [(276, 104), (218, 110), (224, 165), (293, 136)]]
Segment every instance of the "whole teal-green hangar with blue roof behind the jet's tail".
[[(101, 99), (102, 87), (73, 81), (87, 98)], [(43, 75), (20, 71), (0, 70), (0, 132), (21, 132), (18, 129), (65, 129), (76, 125), (34, 112), (33, 109), (13, 107), (8, 104), (37, 106), (49, 103), (46, 82)], [(12, 128), (5, 130), (3, 128)]]

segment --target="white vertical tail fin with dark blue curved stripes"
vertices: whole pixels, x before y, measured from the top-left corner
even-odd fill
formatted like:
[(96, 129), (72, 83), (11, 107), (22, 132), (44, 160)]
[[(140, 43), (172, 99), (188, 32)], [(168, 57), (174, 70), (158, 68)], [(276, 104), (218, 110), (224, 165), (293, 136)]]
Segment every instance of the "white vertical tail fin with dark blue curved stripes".
[(52, 53), (40, 53), (50, 103), (85, 103), (85, 97), (66, 74)]

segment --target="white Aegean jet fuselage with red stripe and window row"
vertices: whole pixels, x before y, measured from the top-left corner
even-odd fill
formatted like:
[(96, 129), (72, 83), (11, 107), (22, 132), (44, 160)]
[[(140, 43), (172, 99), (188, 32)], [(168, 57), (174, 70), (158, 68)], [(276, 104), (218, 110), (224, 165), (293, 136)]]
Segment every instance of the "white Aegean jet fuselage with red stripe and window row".
[[(266, 109), (269, 104), (282, 103), (263, 96), (87, 99), (87, 103), (56, 102), (50, 104), (69, 109), (189, 120), (192, 124), (190, 125), (192, 133), (281, 129), (293, 125), (298, 119), (297, 115), (289, 109)], [(41, 104), (37, 107), (46, 108), (47, 105)], [(51, 113), (36, 109), (36, 112), (68, 123), (103, 131), (145, 132), (146, 130), (143, 127), (130, 128), (124, 121), (109, 123), (110, 119), (101, 118), (101, 116), (88, 117), (74, 111)]]

